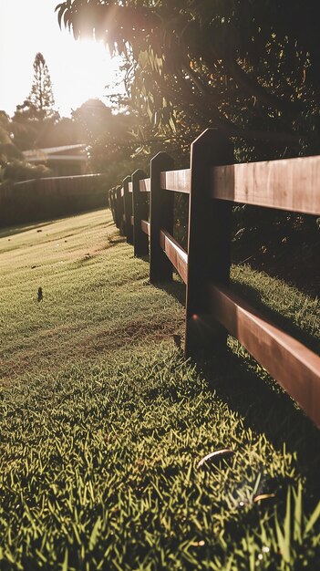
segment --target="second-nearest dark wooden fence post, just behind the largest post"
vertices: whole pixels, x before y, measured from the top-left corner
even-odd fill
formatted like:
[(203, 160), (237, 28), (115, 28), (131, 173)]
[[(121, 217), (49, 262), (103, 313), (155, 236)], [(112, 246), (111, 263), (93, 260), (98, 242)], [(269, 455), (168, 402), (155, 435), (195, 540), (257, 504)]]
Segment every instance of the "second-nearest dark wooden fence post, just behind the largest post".
[(166, 152), (150, 161), (150, 283), (172, 279), (172, 265), (160, 246), (160, 230), (173, 235), (173, 199), (170, 191), (161, 190), (160, 172), (172, 171), (174, 162)]

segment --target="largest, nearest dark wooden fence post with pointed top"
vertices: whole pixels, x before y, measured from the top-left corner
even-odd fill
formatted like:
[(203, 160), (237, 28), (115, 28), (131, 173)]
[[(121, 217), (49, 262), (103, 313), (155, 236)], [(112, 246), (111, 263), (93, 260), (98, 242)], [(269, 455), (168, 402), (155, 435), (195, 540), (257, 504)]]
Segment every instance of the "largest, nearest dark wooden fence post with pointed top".
[(209, 284), (229, 284), (232, 202), (211, 198), (213, 166), (233, 164), (233, 145), (216, 129), (191, 144), (185, 354), (226, 350), (227, 332), (211, 316)]

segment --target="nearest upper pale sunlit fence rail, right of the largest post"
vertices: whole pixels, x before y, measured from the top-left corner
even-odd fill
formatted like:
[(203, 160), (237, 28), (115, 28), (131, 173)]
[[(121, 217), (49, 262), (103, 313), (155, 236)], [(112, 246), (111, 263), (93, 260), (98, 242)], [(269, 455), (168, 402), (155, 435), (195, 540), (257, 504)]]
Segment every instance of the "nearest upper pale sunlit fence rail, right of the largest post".
[(212, 198), (320, 214), (320, 156), (212, 169)]

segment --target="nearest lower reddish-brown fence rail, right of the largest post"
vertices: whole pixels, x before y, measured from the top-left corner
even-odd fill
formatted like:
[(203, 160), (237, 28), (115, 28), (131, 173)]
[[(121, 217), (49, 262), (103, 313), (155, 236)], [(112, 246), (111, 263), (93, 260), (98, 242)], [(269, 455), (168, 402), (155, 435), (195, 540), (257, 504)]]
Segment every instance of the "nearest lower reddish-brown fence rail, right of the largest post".
[(214, 317), (320, 427), (320, 357), (228, 288), (209, 288)]

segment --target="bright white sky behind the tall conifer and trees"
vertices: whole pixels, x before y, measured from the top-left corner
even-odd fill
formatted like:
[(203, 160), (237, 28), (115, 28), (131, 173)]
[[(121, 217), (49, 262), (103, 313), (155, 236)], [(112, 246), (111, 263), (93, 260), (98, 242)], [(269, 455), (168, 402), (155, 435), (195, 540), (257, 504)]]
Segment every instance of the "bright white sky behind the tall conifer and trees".
[(103, 44), (76, 41), (60, 30), (55, 7), (61, 1), (0, 0), (0, 110), (10, 117), (30, 93), (37, 52), (46, 59), (55, 109), (63, 117), (90, 98), (108, 105), (106, 94), (119, 92), (119, 58), (112, 59)]

